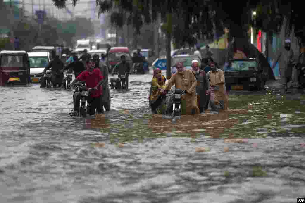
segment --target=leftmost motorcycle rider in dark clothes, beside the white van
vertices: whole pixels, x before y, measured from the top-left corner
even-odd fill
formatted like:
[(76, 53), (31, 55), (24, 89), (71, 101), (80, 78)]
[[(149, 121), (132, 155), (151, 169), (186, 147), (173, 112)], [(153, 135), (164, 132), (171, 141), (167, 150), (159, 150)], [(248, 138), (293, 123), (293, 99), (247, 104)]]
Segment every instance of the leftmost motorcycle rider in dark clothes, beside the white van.
[(59, 55), (56, 55), (55, 58), (49, 62), (48, 66), (45, 68), (43, 73), (45, 74), (45, 72), (48, 69), (52, 68), (52, 78), (51, 78), (52, 83), (61, 84), (63, 80), (63, 73), (61, 72), (61, 70), (63, 69), (64, 66), (65, 64), (63, 63), (63, 61), (59, 59)]

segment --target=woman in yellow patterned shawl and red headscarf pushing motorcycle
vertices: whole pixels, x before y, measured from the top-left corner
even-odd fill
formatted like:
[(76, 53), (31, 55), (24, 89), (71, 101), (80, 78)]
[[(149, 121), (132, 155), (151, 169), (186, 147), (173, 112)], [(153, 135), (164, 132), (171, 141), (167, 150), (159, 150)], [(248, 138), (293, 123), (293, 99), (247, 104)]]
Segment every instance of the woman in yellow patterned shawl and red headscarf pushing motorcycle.
[(165, 77), (162, 75), (160, 68), (156, 68), (153, 71), (152, 84), (149, 91), (149, 105), (154, 114), (165, 113), (165, 94), (161, 93), (161, 89), (165, 85)]

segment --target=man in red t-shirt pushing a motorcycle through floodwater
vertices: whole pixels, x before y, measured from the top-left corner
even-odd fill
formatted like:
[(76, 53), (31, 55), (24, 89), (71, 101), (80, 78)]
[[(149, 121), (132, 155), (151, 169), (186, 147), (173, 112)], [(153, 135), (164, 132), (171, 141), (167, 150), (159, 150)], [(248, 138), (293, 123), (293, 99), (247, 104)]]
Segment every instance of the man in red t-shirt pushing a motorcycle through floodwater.
[[(101, 71), (98, 68), (95, 68), (95, 63), (92, 59), (88, 59), (86, 61), (87, 69), (81, 72), (80, 75), (71, 83), (73, 86), (78, 81), (86, 81), (86, 86), (88, 88), (93, 88), (90, 90), (90, 95), (88, 97), (88, 102), (90, 104), (89, 115), (93, 115), (95, 113), (95, 109), (97, 109), (99, 114), (104, 113), (104, 108), (101, 105), (102, 98), (102, 84), (104, 82), (104, 77)], [(75, 95), (75, 94), (74, 94)], [(73, 96), (74, 99), (74, 114), (78, 114), (79, 109), (79, 95)]]

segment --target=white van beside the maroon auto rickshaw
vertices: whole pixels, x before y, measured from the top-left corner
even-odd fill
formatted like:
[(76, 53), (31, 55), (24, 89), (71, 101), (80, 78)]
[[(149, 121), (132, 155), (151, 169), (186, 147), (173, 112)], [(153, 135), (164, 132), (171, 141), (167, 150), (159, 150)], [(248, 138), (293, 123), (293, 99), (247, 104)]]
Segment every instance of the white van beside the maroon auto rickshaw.
[(48, 51), (28, 52), (30, 61), (30, 73), (32, 82), (40, 82), (43, 71), (51, 61), (51, 54)]

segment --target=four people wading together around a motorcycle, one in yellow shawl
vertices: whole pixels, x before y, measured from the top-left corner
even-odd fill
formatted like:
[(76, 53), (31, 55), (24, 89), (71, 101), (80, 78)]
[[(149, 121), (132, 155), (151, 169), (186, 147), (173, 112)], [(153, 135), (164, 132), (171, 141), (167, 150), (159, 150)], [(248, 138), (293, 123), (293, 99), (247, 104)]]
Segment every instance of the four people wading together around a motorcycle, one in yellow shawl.
[(228, 94), (225, 87), (224, 72), (218, 69), (218, 64), (210, 62), (210, 71), (205, 73), (199, 69), (199, 62), (192, 61), (191, 70), (185, 69), (183, 62), (176, 63), (177, 72), (167, 81), (159, 68), (154, 69), (149, 94), (149, 105), (152, 113), (164, 112), (167, 91), (173, 85), (185, 90), (181, 97), (181, 114), (204, 114), (210, 107), (217, 111), (217, 105), (222, 110), (228, 110)]

